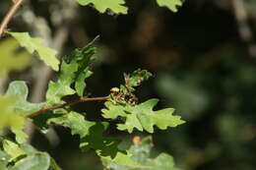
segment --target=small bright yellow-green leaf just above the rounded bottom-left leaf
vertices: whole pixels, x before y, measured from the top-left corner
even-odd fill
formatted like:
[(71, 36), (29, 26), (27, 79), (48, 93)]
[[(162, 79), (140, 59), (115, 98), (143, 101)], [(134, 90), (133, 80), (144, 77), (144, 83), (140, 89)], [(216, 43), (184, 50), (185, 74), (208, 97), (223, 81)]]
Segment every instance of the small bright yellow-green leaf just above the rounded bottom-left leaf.
[(9, 140), (3, 141), (3, 148), (11, 156), (11, 160), (26, 154), (26, 152), (15, 142)]

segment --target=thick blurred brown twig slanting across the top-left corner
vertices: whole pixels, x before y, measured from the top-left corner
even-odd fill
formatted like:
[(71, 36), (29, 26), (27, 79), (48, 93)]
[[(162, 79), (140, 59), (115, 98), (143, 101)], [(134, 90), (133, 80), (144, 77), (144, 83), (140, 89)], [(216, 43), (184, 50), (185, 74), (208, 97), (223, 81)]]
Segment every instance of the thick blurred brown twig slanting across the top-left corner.
[(0, 37), (3, 35), (5, 28), (7, 28), (7, 25), (10, 23), (11, 19), (13, 18), (16, 11), (19, 9), (19, 7), (22, 5), (23, 2), (24, 0), (14, 1), (12, 8), (9, 10), (9, 12), (7, 13), (3, 22), (0, 25)]

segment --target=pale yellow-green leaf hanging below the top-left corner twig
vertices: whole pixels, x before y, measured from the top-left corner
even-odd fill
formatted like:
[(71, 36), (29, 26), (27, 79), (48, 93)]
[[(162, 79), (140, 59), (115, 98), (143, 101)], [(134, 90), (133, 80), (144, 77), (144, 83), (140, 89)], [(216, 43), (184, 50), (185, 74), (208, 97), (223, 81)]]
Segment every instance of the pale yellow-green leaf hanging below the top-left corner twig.
[(59, 60), (55, 57), (57, 52), (49, 47), (42, 45), (43, 40), (38, 37), (31, 37), (28, 32), (11, 32), (8, 31), (13, 37), (15, 37), (30, 53), (37, 52), (39, 58), (53, 70), (59, 70)]

